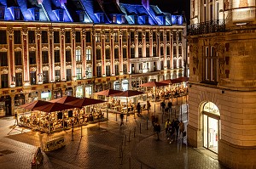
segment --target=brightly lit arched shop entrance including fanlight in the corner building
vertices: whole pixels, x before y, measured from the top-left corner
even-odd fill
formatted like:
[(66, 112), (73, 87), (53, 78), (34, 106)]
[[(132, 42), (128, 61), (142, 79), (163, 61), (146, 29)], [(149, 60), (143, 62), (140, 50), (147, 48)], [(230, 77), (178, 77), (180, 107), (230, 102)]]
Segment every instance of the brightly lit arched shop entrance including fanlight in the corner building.
[(216, 104), (205, 102), (201, 104), (203, 147), (218, 154), (220, 136), (220, 114)]

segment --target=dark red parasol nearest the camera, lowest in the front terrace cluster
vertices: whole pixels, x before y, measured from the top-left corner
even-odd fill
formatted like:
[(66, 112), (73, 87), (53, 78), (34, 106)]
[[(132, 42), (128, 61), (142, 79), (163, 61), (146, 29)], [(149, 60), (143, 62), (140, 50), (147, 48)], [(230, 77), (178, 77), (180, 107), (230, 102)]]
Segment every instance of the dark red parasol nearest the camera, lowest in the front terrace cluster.
[(50, 113), (50, 112), (54, 112), (54, 111), (71, 110), (74, 108), (75, 107), (73, 105), (60, 104), (60, 103), (49, 103), (47, 105), (37, 107), (34, 110), (40, 110), (40, 111), (44, 111), (46, 113)]

